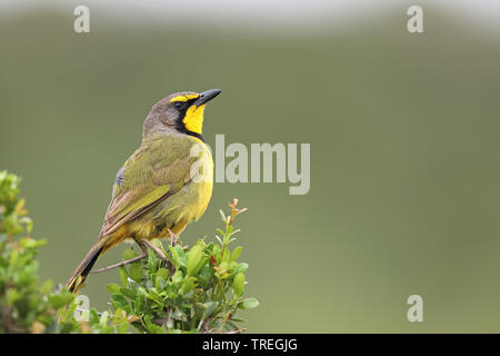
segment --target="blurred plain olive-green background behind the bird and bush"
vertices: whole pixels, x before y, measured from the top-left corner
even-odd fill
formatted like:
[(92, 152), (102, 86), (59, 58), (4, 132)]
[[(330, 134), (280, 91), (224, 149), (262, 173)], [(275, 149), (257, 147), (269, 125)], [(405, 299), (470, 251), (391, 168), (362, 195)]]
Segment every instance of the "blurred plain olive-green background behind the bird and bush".
[[(432, 7), (410, 34), (409, 4), (310, 30), (130, 23), (91, 7), (77, 34), (73, 3), (0, 16), (0, 169), (22, 176), (49, 239), (42, 278), (66, 281), (96, 240), (151, 106), (222, 88), (206, 111), (212, 146), (216, 134), (311, 144), (308, 195), (217, 184), (182, 235), (212, 237), (233, 197), (249, 208), (250, 332), (499, 332), (500, 39)], [(93, 275), (82, 293), (104, 308), (117, 278)], [(407, 320), (413, 294), (423, 323)]]

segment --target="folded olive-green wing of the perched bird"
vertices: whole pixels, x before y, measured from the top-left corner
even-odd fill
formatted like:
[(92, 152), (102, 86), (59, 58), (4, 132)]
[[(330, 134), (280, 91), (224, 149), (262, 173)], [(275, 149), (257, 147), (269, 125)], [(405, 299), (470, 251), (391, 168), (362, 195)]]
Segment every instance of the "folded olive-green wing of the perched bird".
[(141, 145), (117, 174), (100, 238), (168, 199), (190, 180), (197, 160), (189, 155), (191, 146), (191, 140), (182, 137)]

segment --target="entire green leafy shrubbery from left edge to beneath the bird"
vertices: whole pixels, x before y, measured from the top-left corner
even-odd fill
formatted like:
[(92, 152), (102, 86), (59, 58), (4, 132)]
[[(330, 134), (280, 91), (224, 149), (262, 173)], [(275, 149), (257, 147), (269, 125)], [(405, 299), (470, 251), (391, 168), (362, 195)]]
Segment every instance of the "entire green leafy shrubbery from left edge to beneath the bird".
[[(76, 313), (76, 295), (61, 287), (53, 291), (51, 280), (39, 283), (37, 255), (46, 240), (30, 236), (19, 182), (0, 172), (0, 333), (130, 333), (130, 326), (154, 334), (244, 330), (237, 313), (259, 303), (243, 297), (248, 265), (238, 261), (241, 246), (229, 248), (238, 233), (234, 218), (246, 210), (238, 209), (237, 199), (229, 216), (221, 211), (224, 229), (213, 241), (187, 247), (172, 239), (166, 249), (153, 240), (168, 261), (149, 249), (147, 258), (120, 267), (120, 285), (108, 285), (112, 310)], [(131, 248), (123, 251), (124, 259), (134, 256)]]

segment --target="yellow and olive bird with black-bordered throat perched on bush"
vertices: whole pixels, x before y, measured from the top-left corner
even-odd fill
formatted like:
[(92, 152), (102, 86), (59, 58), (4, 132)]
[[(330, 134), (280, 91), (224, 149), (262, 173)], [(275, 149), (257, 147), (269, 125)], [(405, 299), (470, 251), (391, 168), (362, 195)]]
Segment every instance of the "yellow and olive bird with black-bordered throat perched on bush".
[(203, 215), (213, 187), (213, 159), (202, 136), (203, 111), (221, 91), (176, 92), (153, 105), (143, 122), (141, 145), (117, 172), (98, 240), (66, 284), (68, 290), (78, 291), (111, 247), (132, 240), (142, 250), (133, 258), (138, 260), (147, 256), (147, 246), (154, 249), (151, 239), (177, 237)]

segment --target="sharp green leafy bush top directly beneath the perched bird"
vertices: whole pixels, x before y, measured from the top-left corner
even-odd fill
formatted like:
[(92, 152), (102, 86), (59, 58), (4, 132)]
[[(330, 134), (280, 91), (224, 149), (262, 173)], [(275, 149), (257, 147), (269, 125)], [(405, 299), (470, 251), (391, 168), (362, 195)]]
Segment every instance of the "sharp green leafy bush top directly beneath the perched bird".
[[(224, 230), (218, 229), (216, 241), (198, 240), (191, 248), (180, 243), (168, 250), (153, 240), (168, 256), (168, 264), (152, 251), (148, 258), (121, 267), (121, 286), (111, 284), (111, 305), (137, 318), (132, 325), (143, 333), (226, 333), (240, 332), (236, 314), (258, 305), (256, 298), (243, 298), (246, 263), (238, 263), (242, 247), (232, 251), (229, 244), (238, 233), (232, 221), (244, 210), (237, 201), (231, 215), (222, 215)], [(124, 259), (136, 256), (132, 249)]]

